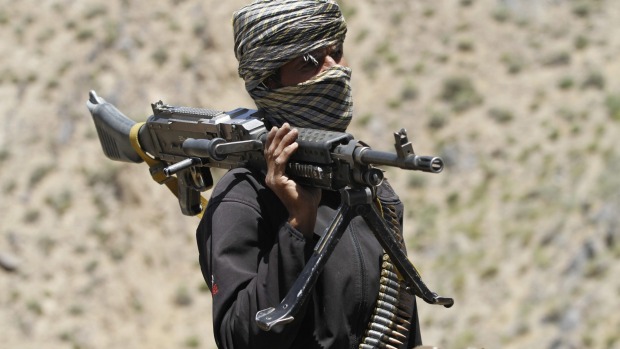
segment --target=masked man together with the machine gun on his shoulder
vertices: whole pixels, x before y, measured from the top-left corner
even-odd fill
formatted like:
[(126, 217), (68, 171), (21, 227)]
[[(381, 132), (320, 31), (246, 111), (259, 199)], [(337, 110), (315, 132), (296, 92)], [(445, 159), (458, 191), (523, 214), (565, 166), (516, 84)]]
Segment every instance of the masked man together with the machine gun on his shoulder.
[[(406, 254), (403, 205), (375, 167), (439, 173), (404, 129), (396, 153), (346, 131), (353, 116), (346, 23), (332, 0), (261, 0), (233, 16), (239, 75), (258, 110), (159, 101), (136, 123), (91, 91), (104, 153), (149, 165), (202, 216), (196, 231), (221, 349), (413, 348), (416, 296), (430, 291)], [(210, 168), (229, 171), (208, 201)]]

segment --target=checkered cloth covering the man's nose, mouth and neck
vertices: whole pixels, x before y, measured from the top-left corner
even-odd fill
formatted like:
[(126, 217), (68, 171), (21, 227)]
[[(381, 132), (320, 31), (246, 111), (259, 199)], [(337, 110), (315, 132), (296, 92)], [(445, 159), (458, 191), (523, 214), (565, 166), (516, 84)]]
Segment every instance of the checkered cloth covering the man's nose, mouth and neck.
[(260, 86), (250, 95), (273, 126), (288, 122), (344, 132), (353, 116), (351, 69), (339, 65), (300, 84), (277, 89)]

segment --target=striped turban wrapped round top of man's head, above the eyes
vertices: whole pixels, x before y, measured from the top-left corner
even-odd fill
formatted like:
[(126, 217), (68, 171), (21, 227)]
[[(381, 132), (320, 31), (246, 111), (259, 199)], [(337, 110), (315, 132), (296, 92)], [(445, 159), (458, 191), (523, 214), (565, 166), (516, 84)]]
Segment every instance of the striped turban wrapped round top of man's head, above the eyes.
[(239, 76), (251, 92), (284, 63), (344, 41), (347, 25), (332, 0), (258, 0), (233, 15)]

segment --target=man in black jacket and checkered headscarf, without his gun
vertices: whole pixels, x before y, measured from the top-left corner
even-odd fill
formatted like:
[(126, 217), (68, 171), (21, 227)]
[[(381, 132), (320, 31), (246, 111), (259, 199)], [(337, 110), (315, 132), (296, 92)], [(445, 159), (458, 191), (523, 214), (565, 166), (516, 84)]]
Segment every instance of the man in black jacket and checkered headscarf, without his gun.
[[(285, 169), (298, 147), (294, 127), (347, 128), (351, 70), (342, 49), (346, 23), (330, 0), (256, 1), (234, 14), (233, 26), (239, 74), (272, 128), (266, 173), (223, 176), (197, 230), (218, 347), (421, 344), (415, 298), (401, 292), (400, 303), (387, 304), (381, 297), (389, 259), (361, 217), (347, 227), (295, 320), (271, 331), (256, 325), (257, 311), (280, 303), (336, 214), (338, 192), (303, 187)], [(402, 203), (387, 183), (377, 196), (400, 234)]]

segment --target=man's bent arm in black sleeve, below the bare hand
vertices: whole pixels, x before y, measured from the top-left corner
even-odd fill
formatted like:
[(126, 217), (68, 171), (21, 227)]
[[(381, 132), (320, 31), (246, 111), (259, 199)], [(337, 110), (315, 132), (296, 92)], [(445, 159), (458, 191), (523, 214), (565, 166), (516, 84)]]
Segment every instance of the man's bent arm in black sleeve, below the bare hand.
[(279, 203), (272, 202), (273, 211), (259, 203), (256, 183), (247, 176), (238, 170), (221, 180), (197, 231), (201, 267), (213, 295), (214, 334), (220, 348), (288, 348), (300, 321), (266, 332), (255, 316), (283, 298), (303, 269), (308, 245), (285, 214), (273, 214), (282, 209)]

